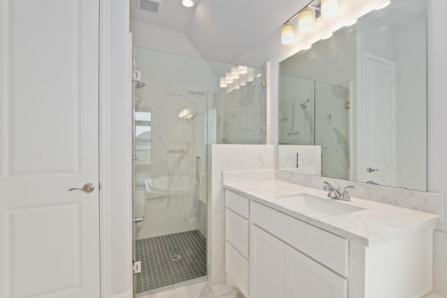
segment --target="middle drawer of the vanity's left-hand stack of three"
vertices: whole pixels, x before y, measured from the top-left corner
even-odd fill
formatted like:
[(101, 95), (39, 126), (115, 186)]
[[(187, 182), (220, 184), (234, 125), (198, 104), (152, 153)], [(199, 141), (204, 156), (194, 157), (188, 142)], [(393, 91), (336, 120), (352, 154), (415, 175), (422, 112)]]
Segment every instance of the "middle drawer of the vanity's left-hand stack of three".
[(225, 209), (225, 239), (245, 258), (249, 258), (249, 221)]

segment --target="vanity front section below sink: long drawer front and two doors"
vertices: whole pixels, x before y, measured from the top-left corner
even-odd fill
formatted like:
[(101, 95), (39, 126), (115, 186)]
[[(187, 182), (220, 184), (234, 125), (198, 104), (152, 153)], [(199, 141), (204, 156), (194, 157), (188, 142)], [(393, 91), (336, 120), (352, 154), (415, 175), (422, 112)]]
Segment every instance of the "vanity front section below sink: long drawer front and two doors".
[(346, 278), (329, 269), (347, 275), (346, 239), (253, 201), (250, 222), (251, 297), (347, 297)]

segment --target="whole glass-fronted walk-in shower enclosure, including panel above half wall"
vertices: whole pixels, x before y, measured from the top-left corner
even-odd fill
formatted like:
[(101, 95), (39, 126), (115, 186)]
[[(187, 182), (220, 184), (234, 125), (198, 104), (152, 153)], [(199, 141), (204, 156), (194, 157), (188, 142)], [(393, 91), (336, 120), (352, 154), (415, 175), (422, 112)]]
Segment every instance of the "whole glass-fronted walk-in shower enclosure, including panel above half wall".
[[(206, 144), (265, 144), (261, 69), (133, 50), (136, 296), (207, 276)], [(222, 84), (231, 68), (233, 82)], [(228, 77), (228, 76), (227, 76)], [(226, 85), (226, 86), (225, 86)]]

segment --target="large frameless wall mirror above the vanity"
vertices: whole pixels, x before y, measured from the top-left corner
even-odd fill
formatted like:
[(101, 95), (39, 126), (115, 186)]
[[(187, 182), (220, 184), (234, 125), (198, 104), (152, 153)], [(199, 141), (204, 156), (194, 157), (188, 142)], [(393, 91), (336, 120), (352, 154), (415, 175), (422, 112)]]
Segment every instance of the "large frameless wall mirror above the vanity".
[(392, 0), (281, 61), (280, 170), (427, 191), (426, 16)]

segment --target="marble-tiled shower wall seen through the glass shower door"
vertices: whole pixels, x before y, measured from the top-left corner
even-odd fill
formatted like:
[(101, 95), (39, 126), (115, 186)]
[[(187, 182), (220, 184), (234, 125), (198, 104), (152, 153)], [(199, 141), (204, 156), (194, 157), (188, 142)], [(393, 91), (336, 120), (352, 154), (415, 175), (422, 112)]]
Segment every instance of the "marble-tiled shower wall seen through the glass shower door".
[[(206, 185), (196, 180), (196, 156), (205, 158), (206, 94), (156, 87), (145, 93), (145, 99), (135, 106), (137, 112), (151, 113), (150, 131), (145, 133), (149, 135), (150, 158), (140, 164), (137, 161), (134, 172), (135, 197), (144, 193), (145, 203), (140, 204), (144, 211), (139, 213), (146, 219), (136, 225), (136, 238), (205, 231), (200, 223), (205, 224)], [(184, 108), (191, 113), (189, 119), (179, 117)], [(149, 186), (149, 181), (161, 177), (168, 177), (166, 189)], [(185, 181), (180, 190), (175, 190), (177, 177)]]

